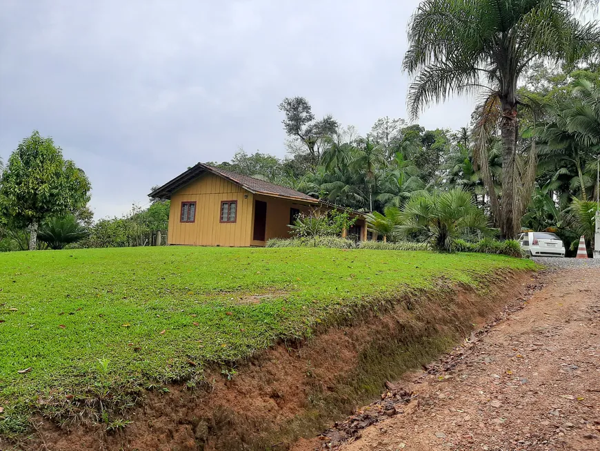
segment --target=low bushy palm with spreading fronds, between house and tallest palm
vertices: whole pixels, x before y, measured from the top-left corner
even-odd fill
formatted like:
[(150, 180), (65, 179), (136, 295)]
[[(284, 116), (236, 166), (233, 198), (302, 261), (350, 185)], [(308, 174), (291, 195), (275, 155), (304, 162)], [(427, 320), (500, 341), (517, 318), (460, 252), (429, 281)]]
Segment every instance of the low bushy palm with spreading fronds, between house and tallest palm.
[(461, 188), (445, 193), (422, 193), (411, 198), (396, 227), (401, 238), (413, 234), (426, 236), (439, 251), (452, 251), (452, 244), (469, 229), (488, 231), (483, 211), (477, 208), (472, 195)]

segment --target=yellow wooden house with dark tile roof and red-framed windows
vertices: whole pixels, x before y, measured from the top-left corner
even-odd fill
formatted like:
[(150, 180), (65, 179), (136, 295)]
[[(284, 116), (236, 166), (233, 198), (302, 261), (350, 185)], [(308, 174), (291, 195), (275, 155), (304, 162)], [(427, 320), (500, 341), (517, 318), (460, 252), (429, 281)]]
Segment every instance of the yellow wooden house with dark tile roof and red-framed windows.
[[(285, 186), (198, 163), (159, 189), (151, 198), (171, 200), (168, 244), (192, 246), (264, 246), (270, 238), (289, 238), (299, 213), (333, 205)], [(366, 240), (364, 218), (349, 233)]]

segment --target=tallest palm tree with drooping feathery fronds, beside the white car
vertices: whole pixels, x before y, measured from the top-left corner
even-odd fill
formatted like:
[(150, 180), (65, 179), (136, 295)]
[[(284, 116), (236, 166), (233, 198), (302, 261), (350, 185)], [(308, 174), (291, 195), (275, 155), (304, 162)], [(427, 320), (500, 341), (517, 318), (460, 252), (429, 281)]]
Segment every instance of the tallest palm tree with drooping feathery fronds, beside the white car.
[(581, 24), (572, 12), (583, 3), (597, 0), (424, 0), (410, 21), (403, 65), (415, 76), (408, 97), (412, 116), (434, 101), (481, 88), (488, 111), (499, 111), (485, 116), (500, 128), (500, 202), (489, 177), (484, 182), (506, 238), (521, 228), (537, 160), (534, 147), (523, 162), (517, 156), (519, 110), (526, 104), (517, 84), (535, 62), (574, 64), (597, 55), (600, 28)]

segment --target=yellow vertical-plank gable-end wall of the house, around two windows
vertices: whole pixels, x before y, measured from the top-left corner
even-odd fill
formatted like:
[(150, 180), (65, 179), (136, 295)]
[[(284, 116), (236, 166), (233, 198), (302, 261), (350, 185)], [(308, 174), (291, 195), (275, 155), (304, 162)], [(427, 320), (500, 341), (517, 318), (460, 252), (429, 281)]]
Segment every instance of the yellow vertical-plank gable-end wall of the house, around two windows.
[[(220, 222), (223, 200), (237, 200), (236, 222)], [(196, 202), (195, 222), (181, 222), (181, 202), (189, 201)], [(168, 242), (196, 246), (250, 246), (253, 220), (252, 193), (217, 175), (206, 173), (172, 194)]]

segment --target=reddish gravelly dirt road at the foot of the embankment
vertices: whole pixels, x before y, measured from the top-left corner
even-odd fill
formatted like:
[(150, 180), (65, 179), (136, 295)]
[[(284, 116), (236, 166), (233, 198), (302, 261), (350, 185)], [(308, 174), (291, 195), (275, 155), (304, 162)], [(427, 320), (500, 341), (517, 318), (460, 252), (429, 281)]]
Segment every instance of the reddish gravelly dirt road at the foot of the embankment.
[(539, 282), (523, 309), (394, 383), (412, 392), (398, 414), (294, 450), (600, 450), (600, 269)]

